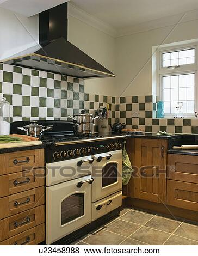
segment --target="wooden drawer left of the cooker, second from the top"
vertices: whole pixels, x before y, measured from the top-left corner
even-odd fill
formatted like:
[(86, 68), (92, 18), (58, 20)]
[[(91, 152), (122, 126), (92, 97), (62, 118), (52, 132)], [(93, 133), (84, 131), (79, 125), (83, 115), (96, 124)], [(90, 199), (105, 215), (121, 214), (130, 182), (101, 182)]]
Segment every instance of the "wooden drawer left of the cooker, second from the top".
[(0, 176), (0, 198), (44, 186), (44, 168)]

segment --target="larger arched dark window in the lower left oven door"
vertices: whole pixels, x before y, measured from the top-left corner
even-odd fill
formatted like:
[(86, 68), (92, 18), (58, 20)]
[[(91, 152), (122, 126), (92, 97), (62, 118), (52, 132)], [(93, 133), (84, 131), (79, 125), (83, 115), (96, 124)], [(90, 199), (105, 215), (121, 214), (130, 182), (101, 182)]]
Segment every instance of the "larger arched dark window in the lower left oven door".
[(61, 225), (84, 215), (84, 194), (76, 193), (61, 203)]

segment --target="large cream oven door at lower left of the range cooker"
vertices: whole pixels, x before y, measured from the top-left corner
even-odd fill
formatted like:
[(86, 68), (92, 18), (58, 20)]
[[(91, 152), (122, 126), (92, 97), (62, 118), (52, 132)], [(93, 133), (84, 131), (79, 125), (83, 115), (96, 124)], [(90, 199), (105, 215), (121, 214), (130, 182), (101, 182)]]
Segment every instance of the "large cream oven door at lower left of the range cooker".
[(46, 188), (46, 243), (91, 222), (91, 175)]

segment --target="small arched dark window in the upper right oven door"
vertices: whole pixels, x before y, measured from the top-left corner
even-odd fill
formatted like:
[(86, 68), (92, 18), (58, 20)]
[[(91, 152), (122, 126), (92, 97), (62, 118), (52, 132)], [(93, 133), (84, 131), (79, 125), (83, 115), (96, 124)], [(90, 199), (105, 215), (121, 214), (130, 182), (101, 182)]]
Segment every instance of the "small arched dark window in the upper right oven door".
[(115, 182), (117, 182), (117, 163), (107, 163), (102, 168), (102, 187), (107, 187)]

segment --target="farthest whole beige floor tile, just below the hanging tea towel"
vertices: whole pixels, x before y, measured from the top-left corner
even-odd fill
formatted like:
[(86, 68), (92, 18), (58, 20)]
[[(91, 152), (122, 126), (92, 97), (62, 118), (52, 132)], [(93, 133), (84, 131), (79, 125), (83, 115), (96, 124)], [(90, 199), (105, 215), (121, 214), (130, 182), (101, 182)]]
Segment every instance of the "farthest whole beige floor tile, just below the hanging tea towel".
[(152, 217), (153, 217), (153, 215), (151, 215), (151, 214), (145, 214), (144, 212), (131, 210), (131, 211), (127, 212), (127, 214), (121, 216), (120, 220), (144, 225)]

